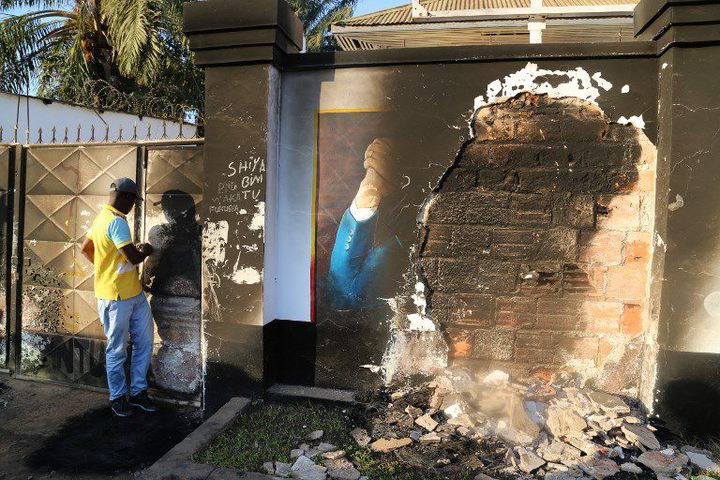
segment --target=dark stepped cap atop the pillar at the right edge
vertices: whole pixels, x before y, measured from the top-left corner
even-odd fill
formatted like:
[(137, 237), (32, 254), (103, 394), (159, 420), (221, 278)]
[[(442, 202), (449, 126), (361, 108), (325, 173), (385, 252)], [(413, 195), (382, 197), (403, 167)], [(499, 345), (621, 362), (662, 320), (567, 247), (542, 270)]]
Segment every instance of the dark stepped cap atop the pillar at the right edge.
[(635, 36), (658, 42), (658, 53), (673, 46), (720, 41), (717, 0), (642, 0), (634, 12)]

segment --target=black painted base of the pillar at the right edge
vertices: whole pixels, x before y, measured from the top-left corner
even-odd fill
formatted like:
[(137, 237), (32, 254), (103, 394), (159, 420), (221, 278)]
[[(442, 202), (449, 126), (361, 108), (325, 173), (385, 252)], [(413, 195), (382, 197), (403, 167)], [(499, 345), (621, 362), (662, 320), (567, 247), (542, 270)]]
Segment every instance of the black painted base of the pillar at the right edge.
[(662, 350), (656, 415), (670, 430), (707, 440), (720, 435), (720, 354)]

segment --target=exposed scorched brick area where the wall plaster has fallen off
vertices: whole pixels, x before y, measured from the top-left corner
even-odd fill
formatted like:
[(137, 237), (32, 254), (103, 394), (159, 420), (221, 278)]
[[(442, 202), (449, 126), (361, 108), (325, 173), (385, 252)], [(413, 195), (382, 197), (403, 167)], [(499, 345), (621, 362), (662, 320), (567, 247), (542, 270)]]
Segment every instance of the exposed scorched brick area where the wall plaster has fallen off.
[(655, 340), (654, 146), (594, 103), (529, 93), (480, 108), (472, 128), (421, 219), (422, 275), (451, 362), (572, 370), (639, 395)]

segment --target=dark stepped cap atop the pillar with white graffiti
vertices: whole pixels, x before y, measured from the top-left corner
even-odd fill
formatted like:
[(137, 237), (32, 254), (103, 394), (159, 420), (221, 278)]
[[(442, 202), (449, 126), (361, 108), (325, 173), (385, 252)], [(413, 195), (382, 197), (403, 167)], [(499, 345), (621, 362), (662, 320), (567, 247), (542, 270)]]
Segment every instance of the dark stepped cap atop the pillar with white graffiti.
[(303, 24), (285, 0), (187, 2), (183, 17), (199, 66), (279, 63), (303, 46)]

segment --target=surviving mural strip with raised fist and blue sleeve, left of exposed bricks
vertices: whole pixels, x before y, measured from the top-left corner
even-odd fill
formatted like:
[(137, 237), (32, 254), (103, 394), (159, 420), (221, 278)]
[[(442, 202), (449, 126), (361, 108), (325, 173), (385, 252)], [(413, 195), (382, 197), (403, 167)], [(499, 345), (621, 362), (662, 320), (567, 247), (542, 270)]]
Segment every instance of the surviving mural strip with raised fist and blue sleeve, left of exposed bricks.
[[(318, 368), (345, 371), (362, 359), (382, 361), (394, 297), (403, 290), (415, 243), (415, 212), (435, 168), (409, 160), (397, 112), (320, 112), (317, 118), (312, 314), (321, 330), (340, 329), (356, 342), (319, 348), (332, 361)], [(367, 370), (366, 373), (369, 373)], [(361, 372), (362, 373), (362, 372)]]

